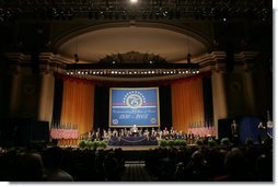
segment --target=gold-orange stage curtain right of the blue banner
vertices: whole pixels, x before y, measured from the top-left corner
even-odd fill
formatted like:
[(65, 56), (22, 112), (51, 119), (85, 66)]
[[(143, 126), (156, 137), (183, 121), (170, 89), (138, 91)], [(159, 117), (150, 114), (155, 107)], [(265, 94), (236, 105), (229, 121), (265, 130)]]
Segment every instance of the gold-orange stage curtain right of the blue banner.
[(187, 132), (190, 127), (204, 126), (202, 79), (188, 78), (171, 84), (172, 122), (175, 130)]

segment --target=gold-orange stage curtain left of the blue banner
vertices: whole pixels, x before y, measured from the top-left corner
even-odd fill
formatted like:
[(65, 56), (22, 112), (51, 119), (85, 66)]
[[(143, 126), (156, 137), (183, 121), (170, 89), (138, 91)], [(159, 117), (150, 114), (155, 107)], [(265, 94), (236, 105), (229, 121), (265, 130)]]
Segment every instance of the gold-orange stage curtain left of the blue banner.
[(65, 79), (60, 124), (78, 128), (79, 135), (91, 131), (94, 121), (94, 85)]

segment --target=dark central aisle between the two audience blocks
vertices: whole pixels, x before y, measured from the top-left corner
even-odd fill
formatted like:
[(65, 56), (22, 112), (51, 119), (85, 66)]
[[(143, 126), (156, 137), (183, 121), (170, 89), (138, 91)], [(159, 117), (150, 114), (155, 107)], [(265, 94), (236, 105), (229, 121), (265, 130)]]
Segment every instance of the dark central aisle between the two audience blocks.
[(144, 168), (144, 161), (126, 161), (121, 182), (154, 182)]

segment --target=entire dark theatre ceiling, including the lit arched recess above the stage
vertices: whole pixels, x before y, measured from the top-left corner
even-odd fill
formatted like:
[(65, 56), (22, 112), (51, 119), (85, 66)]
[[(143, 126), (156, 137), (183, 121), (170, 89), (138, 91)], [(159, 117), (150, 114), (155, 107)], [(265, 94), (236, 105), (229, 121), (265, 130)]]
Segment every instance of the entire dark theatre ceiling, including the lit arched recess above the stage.
[(78, 63), (95, 65), (129, 52), (151, 54), (171, 63), (186, 62), (190, 54), (192, 62), (202, 68), (223, 62), (227, 54), (260, 51), (271, 57), (271, 4), (270, 0), (138, 0), (136, 4), (0, 0), (0, 54), (10, 52), (7, 57), (16, 62), (37, 59), (32, 65), (50, 61), (60, 67), (77, 62), (77, 56)]

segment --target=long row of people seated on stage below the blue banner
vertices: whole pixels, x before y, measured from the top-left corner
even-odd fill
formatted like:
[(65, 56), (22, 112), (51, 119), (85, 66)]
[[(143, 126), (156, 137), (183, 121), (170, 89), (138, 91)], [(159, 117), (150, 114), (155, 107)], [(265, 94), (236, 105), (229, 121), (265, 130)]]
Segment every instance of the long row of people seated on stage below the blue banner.
[(92, 130), (85, 135), (80, 137), (81, 140), (106, 140), (108, 141), (112, 137), (121, 137), (121, 138), (130, 138), (130, 137), (155, 137), (158, 140), (161, 139), (181, 139), (187, 140), (188, 142), (195, 142), (195, 140), (200, 139), (199, 135), (194, 135), (192, 132), (183, 132), (177, 131), (173, 128), (170, 130), (165, 127), (164, 129), (160, 128), (137, 128), (134, 126), (130, 129), (127, 128), (108, 128)]

